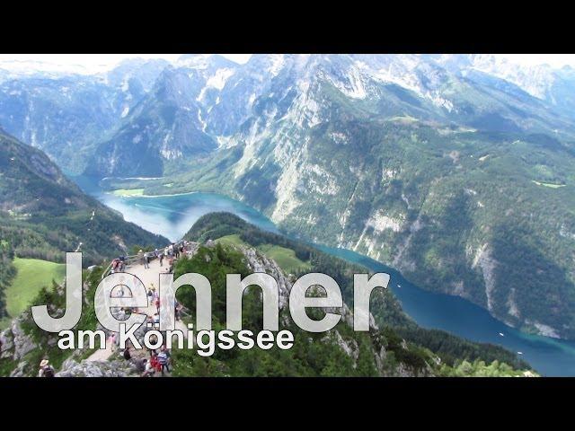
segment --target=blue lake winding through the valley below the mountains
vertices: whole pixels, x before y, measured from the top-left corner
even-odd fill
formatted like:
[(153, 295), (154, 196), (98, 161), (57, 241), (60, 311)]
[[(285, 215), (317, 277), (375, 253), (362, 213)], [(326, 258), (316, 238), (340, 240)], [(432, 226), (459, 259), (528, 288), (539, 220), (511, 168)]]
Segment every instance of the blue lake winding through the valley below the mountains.
[[(260, 212), (222, 195), (191, 193), (155, 198), (119, 198), (102, 193), (90, 181), (75, 180), (86, 192), (120, 211), (126, 220), (173, 241), (188, 232), (200, 216), (214, 211), (227, 211), (262, 229), (279, 232), (270, 219)], [(398, 271), (374, 259), (354, 251), (333, 249), (320, 244), (314, 246), (341, 259), (364, 265), (372, 271), (390, 274), (390, 286), (402, 303), (403, 310), (424, 328), (447, 330), (466, 339), (499, 344), (513, 352), (522, 352), (521, 357), (540, 374), (575, 376), (573, 341), (529, 335), (514, 330), (491, 317), (489, 312), (481, 307), (462, 298), (434, 294), (412, 285)], [(500, 333), (503, 336), (500, 336)]]

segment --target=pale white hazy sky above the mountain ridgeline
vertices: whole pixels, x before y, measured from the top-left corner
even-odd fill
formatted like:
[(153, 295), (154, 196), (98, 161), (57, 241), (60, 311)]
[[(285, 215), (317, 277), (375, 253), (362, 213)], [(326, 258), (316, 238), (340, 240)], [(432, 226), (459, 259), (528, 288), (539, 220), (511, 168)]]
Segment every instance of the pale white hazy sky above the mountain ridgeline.
[[(246, 62), (251, 54), (223, 54), (238, 63)], [(115, 66), (122, 59), (129, 57), (144, 58), (165, 58), (168, 61), (174, 61), (181, 54), (0, 54), (0, 67), (16, 67), (15, 62), (39, 62), (38, 68), (52, 68), (47, 65), (55, 66), (61, 70), (75, 70), (77, 68), (85, 69), (86, 72), (98, 72), (108, 70)], [(533, 66), (547, 63), (551, 66), (561, 67), (570, 65), (575, 67), (575, 54), (500, 54), (502, 57), (509, 58), (510, 61)], [(23, 65), (22, 65), (23, 66)]]

